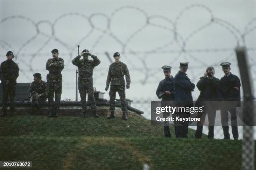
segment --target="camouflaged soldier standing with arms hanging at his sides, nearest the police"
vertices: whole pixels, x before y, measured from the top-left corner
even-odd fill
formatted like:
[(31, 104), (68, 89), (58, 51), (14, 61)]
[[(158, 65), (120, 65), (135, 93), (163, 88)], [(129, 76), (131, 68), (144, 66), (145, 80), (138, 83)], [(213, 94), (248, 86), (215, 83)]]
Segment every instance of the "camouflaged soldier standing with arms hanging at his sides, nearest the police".
[(115, 110), (115, 94), (118, 92), (120, 100), (121, 100), (121, 107), (123, 111), (123, 120), (127, 120), (127, 104), (125, 101), (125, 80), (123, 76), (125, 75), (126, 79), (126, 88), (130, 88), (131, 84), (131, 78), (129, 74), (129, 70), (125, 63), (122, 63), (120, 61), (120, 54), (118, 52), (114, 53), (113, 57), (115, 58), (115, 62), (112, 63), (109, 66), (108, 70), (108, 78), (106, 83), (105, 90), (108, 91), (109, 84), (110, 85), (110, 91), (109, 91), (109, 97), (110, 97), (110, 116), (108, 119), (114, 118), (114, 110)]

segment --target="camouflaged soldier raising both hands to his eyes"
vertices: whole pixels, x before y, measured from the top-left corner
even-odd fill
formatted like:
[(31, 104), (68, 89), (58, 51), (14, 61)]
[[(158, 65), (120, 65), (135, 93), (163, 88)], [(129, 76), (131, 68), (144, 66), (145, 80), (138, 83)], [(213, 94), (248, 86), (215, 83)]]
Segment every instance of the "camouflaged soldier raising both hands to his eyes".
[[(79, 60), (81, 56), (83, 56), (83, 59)], [(88, 56), (91, 56), (93, 60), (88, 60)], [(97, 108), (94, 98), (92, 74), (94, 67), (100, 64), (100, 60), (97, 56), (92, 55), (88, 50), (83, 50), (81, 55), (72, 60), (72, 63), (78, 67), (79, 71), (78, 89), (81, 97), (81, 105), (84, 114), (83, 117), (87, 117), (86, 93), (88, 93), (88, 100), (90, 101), (93, 116), (99, 117), (96, 113)]]

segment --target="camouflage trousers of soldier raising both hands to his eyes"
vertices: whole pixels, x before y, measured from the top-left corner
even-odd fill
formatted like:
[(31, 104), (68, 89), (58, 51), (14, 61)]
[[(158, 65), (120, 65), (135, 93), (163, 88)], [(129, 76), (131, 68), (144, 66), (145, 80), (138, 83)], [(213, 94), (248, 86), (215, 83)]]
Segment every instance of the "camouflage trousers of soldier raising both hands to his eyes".
[(81, 97), (82, 111), (86, 112), (86, 109), (87, 109), (86, 94), (88, 93), (88, 101), (90, 101), (90, 107), (92, 109), (92, 112), (96, 112), (97, 107), (96, 107), (96, 102), (94, 98), (93, 84), (92, 83), (78, 84), (78, 90)]

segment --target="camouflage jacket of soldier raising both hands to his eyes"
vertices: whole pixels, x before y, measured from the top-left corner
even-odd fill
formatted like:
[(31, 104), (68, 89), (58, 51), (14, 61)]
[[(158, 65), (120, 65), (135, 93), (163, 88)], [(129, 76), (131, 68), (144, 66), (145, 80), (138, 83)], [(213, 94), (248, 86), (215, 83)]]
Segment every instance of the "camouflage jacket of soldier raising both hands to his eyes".
[(82, 79), (92, 79), (93, 69), (100, 64), (99, 58), (92, 55), (93, 60), (79, 60), (80, 56), (77, 56), (72, 60), (72, 63), (78, 67), (79, 81)]

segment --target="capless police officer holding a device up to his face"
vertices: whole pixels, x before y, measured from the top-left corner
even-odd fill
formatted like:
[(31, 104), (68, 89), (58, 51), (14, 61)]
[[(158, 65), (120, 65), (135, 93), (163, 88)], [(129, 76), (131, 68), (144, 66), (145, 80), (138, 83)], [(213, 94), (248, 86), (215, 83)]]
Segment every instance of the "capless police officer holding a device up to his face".
[[(206, 115), (208, 116), (208, 138), (214, 138), (214, 124), (216, 110), (218, 109), (216, 102), (220, 99), (218, 92), (218, 85), (220, 79), (214, 76), (215, 70), (212, 66), (207, 67), (204, 76), (200, 77), (200, 80), (197, 83), (197, 88), (200, 90), (200, 95), (196, 102), (196, 107), (204, 106), (203, 112), (198, 113), (200, 121), (197, 122), (197, 130), (195, 133), (195, 138), (202, 137), (203, 125), (205, 122)], [(211, 102), (212, 101), (212, 102)]]

